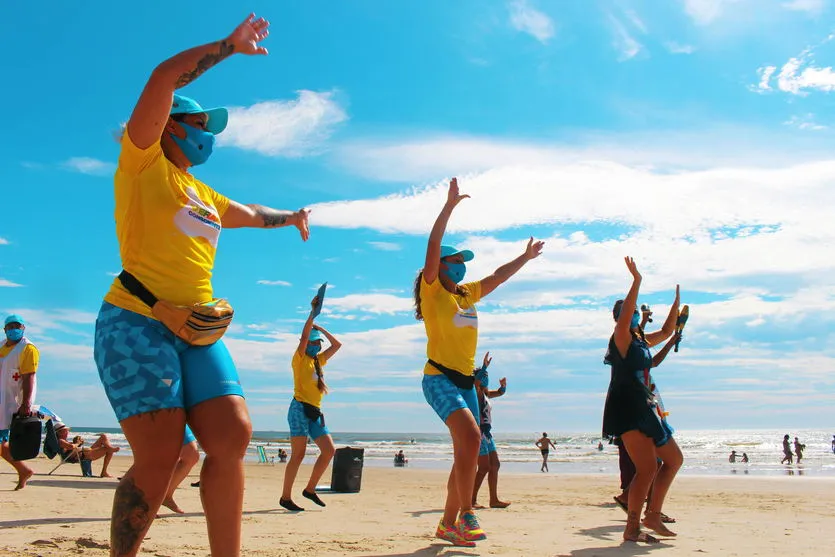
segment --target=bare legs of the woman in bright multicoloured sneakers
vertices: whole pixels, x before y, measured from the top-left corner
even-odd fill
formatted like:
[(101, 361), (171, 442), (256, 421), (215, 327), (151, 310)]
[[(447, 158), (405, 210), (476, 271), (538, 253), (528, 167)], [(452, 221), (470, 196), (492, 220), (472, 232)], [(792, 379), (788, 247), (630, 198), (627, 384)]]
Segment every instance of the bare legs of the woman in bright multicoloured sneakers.
[(473, 508), (476, 461), (481, 444), (481, 431), (468, 409), (456, 410), (446, 420), (452, 436), (453, 464), (447, 482), (447, 500), (444, 506), (444, 525), (452, 527), (459, 513)]

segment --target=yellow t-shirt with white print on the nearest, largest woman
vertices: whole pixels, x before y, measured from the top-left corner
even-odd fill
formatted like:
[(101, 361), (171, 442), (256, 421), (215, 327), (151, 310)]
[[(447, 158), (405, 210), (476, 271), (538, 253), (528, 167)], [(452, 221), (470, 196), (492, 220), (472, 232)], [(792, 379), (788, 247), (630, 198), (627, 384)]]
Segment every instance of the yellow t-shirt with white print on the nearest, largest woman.
[[(159, 143), (139, 149), (127, 131), (115, 195), (122, 267), (161, 300), (177, 305), (210, 301), (220, 219), (229, 199), (171, 164)], [(104, 299), (152, 317), (151, 309), (118, 278)]]

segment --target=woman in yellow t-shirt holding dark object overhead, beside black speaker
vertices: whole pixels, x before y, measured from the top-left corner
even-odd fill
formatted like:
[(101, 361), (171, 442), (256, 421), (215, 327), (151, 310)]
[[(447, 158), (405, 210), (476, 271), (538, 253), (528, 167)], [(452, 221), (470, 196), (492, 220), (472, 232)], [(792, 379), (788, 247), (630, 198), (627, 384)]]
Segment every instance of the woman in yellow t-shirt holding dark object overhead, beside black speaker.
[[(288, 511), (304, 510), (293, 502), (292, 491), (293, 482), (307, 450), (307, 439), (313, 439), (319, 447), (319, 457), (313, 465), (313, 471), (302, 495), (320, 507), (324, 507), (325, 503), (316, 495), (316, 484), (325, 473), (334, 453), (333, 438), (325, 426), (325, 416), (322, 414), (322, 398), (328, 393), (324, 367), (342, 348), (342, 343), (323, 327), (313, 324), (318, 305), (317, 296), (313, 298), (310, 315), (302, 328), (299, 346), (293, 353), (293, 400), (290, 401), (290, 409), (287, 411), (287, 421), (290, 424), (290, 462), (284, 471), (284, 489), (279, 499), (279, 504)], [(323, 337), (330, 343), (324, 352)]]

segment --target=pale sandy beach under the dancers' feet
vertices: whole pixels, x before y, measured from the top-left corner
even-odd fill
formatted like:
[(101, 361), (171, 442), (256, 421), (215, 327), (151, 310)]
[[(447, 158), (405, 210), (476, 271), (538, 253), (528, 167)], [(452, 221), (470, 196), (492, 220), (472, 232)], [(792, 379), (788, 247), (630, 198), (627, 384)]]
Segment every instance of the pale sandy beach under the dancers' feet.
[[(129, 458), (114, 459), (121, 473)], [(8, 556), (107, 555), (115, 479), (82, 478), (78, 465), (54, 475), (54, 463), (33, 461), (37, 474), (22, 491), (16, 476), (0, 467), (0, 554)], [(100, 463), (93, 465), (98, 472)], [(682, 477), (665, 511), (678, 523), (677, 539), (657, 546), (622, 544), (624, 513), (612, 496), (617, 479), (606, 475), (507, 474), (500, 495), (505, 510), (479, 513), (489, 539), (477, 548), (453, 548), (432, 538), (440, 515), (446, 474), (433, 470), (366, 467), (357, 494), (325, 493), (326, 509), (298, 514), (278, 507), (283, 465), (247, 465), (243, 555), (616, 555), (798, 556), (832, 555), (828, 530), (835, 524), (835, 480), (808, 477)], [(208, 555), (198, 489), (177, 492), (187, 511), (163, 509), (143, 554)], [(304, 467), (297, 481), (297, 502)], [(329, 481), (330, 472), (325, 476)], [(486, 489), (486, 488), (485, 488)], [(486, 495), (486, 492), (483, 494)], [(485, 498), (486, 500), (486, 498)]]

